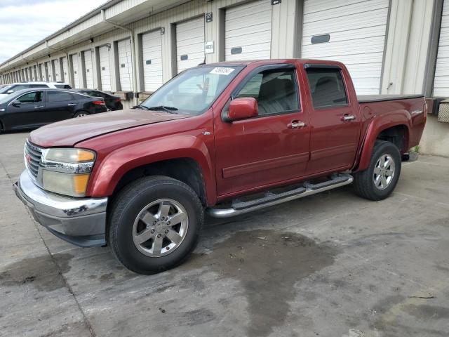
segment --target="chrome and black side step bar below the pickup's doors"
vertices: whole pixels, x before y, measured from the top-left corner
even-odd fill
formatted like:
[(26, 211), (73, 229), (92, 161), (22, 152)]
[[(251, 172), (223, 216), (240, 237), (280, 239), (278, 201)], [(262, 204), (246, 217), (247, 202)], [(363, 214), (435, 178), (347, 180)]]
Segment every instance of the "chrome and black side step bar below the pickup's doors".
[(350, 174), (342, 173), (335, 175), (334, 178), (318, 184), (307, 184), (303, 187), (298, 187), (295, 190), (290, 190), (282, 193), (270, 193), (265, 194), (265, 197), (260, 199), (254, 199), (250, 201), (234, 201), (229, 209), (220, 209), (217, 207), (210, 207), (207, 212), (214, 218), (229, 218), (231, 216), (239, 216), (241, 214), (257, 211), (258, 209), (264, 209), (265, 207), (282, 204), (283, 202), (300, 199), (307, 197), (311, 194), (332, 190), (344, 185), (352, 183), (354, 178)]

